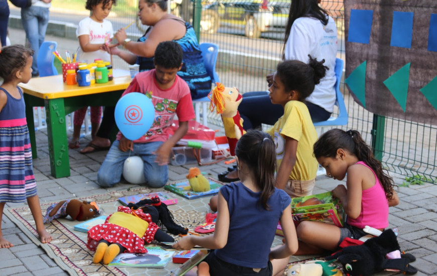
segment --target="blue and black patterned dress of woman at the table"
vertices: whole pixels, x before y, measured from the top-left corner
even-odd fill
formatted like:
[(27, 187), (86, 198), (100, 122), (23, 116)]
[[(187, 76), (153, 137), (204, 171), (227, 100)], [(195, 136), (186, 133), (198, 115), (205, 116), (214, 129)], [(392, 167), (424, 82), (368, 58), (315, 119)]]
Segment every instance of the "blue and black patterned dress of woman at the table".
[[(192, 99), (205, 97), (211, 91), (211, 78), (206, 72), (196, 33), (194, 32), (193, 26), (189, 23), (183, 22), (181, 19), (174, 20), (181, 21), (181, 23), (185, 24), (185, 28), (187, 29), (182, 38), (173, 40), (182, 47), (183, 51), (182, 68), (177, 72), (177, 74), (187, 82)], [(144, 36), (139, 38), (138, 41), (146, 41), (146, 35), (150, 30), (151, 28), (147, 29)], [(137, 57), (137, 64), (140, 65), (140, 72), (155, 68), (153, 57)]]

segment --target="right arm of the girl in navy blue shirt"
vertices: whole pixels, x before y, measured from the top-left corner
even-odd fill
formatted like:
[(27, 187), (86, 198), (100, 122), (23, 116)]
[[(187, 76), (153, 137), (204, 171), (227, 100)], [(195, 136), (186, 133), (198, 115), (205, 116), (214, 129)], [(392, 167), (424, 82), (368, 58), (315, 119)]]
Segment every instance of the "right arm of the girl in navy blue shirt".
[(291, 217), (291, 206), (288, 205), (287, 208), (282, 213), (281, 216), (281, 227), (284, 232), (285, 244), (280, 247), (275, 247), (270, 251), (269, 259), (281, 259), (294, 254), (297, 251), (297, 234), (296, 228), (294, 227), (293, 219)]

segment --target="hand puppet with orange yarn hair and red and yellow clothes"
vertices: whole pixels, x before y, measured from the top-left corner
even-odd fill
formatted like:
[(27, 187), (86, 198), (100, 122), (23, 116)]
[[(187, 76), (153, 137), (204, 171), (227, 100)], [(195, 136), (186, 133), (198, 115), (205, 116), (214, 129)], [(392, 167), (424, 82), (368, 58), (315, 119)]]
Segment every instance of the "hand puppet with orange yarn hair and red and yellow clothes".
[(243, 97), (238, 93), (236, 87), (225, 87), (220, 82), (216, 82), (215, 85), (215, 88), (208, 94), (208, 98), (211, 100), (209, 109), (212, 112), (215, 108), (217, 114), (222, 115), (229, 151), (232, 156), (235, 156), (237, 142), (246, 133), (246, 130), (243, 129), (243, 119), (238, 112), (238, 105)]

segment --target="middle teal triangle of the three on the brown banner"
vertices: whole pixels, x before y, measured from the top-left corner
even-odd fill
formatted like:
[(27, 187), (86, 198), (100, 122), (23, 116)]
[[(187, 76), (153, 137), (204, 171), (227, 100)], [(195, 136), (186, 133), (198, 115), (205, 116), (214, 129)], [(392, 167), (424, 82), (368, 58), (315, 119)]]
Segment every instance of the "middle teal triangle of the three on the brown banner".
[(407, 105), (410, 65), (411, 62), (405, 64), (401, 69), (397, 70), (393, 75), (384, 81), (385, 86), (388, 88), (388, 90), (390, 90), (391, 94), (397, 100), (404, 112)]

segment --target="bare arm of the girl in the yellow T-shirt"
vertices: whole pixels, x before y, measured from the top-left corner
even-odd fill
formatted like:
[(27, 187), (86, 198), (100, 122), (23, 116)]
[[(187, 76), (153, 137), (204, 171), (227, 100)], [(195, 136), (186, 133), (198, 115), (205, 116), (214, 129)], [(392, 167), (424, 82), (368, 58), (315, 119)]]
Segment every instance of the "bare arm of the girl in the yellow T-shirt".
[(283, 135), (285, 140), (284, 156), (276, 175), (276, 188), (285, 189), (290, 173), (296, 164), (297, 140)]

